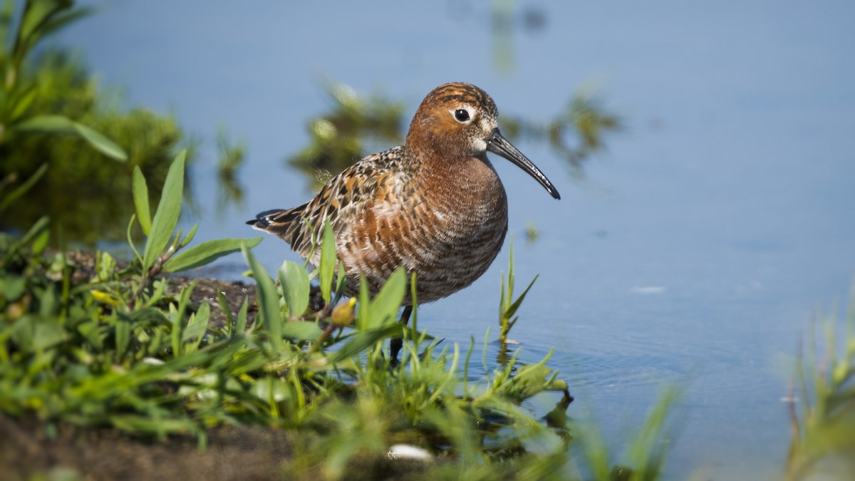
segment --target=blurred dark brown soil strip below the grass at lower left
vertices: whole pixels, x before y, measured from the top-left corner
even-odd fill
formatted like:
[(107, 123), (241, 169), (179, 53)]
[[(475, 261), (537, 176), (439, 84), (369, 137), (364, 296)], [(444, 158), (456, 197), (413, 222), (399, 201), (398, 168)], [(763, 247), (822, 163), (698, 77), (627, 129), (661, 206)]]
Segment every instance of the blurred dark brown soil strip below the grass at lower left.
[(62, 468), (83, 479), (281, 479), (292, 435), (261, 427), (210, 430), (208, 448), (192, 436), (145, 442), (108, 429), (58, 425), (56, 436), (34, 419), (0, 415), (0, 478), (25, 480)]

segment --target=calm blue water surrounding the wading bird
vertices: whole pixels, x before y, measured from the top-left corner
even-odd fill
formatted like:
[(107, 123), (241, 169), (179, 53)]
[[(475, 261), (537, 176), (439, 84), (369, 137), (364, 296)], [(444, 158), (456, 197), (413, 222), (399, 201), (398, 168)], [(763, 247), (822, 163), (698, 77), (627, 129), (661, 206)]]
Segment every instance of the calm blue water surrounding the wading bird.
[[(245, 219), (310, 197), (283, 159), (327, 109), (325, 77), (404, 99), (408, 116), (434, 86), (465, 80), (501, 112), (541, 121), (596, 80), (627, 128), (587, 163), (586, 180), (544, 145), (517, 145), (561, 201), (495, 159), (517, 283), (540, 274), (511, 337), (524, 362), (555, 347), (551, 365), (577, 396), (569, 413), (593, 411), (613, 442), (661, 383), (686, 383), (669, 477), (755, 478), (783, 466), (781, 397), (799, 336), (855, 274), (853, 10), (842, 1), (527, 4), (512, 6), (502, 37), (490, 7), (464, 1), (124, 1), (104, 3), (62, 42), (85, 53), (103, 84), (125, 86), (129, 104), (173, 110), (203, 138), (192, 172), (202, 207), (185, 221), (203, 221), (198, 241), (254, 235)], [(496, 56), (509, 46), (512, 55)], [(246, 199), (215, 211), (220, 123), (247, 145)], [(527, 223), (540, 231), (530, 245)], [(421, 325), (449, 342), (480, 340), (495, 324), (506, 251), (472, 287), (424, 306)], [(297, 259), (273, 238), (256, 252), (268, 270)], [(233, 256), (214, 272), (243, 269)]]

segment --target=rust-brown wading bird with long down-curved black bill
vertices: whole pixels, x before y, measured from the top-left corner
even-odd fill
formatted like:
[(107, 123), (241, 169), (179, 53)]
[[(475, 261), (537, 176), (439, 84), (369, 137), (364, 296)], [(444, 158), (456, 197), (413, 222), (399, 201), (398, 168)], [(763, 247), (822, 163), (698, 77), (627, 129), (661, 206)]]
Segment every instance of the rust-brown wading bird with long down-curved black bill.
[[(422, 100), (404, 144), (357, 161), (314, 199), (247, 221), (277, 235), (317, 266), (328, 220), (345, 269), (345, 295), (363, 279), (377, 294), (399, 267), (416, 273), (416, 300), (442, 299), (481, 277), (508, 230), (508, 199), (486, 152), (522, 168), (561, 199), (555, 186), (498, 129), (498, 109), (481, 88), (452, 82)], [(401, 322), (412, 312), (410, 289)], [(402, 346), (392, 339), (392, 359)]]

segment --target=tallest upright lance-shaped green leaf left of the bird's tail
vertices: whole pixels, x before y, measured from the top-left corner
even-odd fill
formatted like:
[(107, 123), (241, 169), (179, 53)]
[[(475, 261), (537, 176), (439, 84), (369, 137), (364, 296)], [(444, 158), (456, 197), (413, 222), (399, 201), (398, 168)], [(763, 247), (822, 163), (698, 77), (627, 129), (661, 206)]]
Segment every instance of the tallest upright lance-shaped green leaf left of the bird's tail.
[(187, 151), (181, 151), (169, 167), (166, 181), (163, 183), (160, 204), (157, 205), (155, 218), (151, 221), (151, 232), (145, 242), (143, 269), (149, 270), (168, 245), (169, 239), (178, 224), (181, 213), (181, 196), (184, 194), (184, 161)]

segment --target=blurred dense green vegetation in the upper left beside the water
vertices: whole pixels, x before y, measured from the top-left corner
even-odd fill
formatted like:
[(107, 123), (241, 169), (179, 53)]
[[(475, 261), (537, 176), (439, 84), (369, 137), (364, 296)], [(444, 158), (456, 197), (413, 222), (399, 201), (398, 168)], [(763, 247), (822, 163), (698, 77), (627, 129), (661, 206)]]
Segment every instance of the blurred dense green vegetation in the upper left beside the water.
[[(132, 212), (122, 200), (134, 169), (158, 180), (157, 197), (180, 130), (171, 118), (148, 110), (121, 111), (115, 94), (99, 92), (67, 52), (38, 49), (33, 55), (45, 36), (88, 9), (75, 9), (70, 1), (27, 0), (19, 19), (15, 10), (8, 0), (0, 15), (0, 32), (8, 39), (0, 43), (0, 210), (17, 200), (4, 221), (26, 230), (48, 215), (65, 240), (120, 240), (121, 222)], [(6, 197), (12, 186), (18, 191)]]

